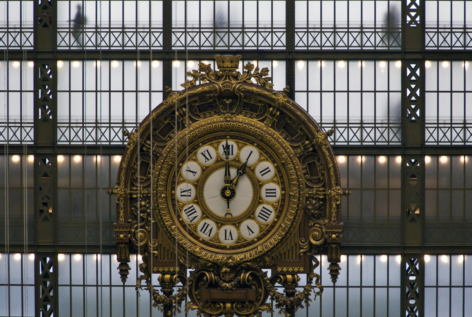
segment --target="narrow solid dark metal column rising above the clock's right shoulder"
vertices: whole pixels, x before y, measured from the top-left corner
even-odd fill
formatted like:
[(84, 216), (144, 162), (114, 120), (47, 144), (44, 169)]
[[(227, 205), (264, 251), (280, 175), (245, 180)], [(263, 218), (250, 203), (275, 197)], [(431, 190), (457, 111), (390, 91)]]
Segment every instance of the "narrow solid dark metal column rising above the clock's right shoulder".
[(287, 47), (287, 61), (285, 62), (285, 82), (289, 86), (288, 97), (295, 100), (295, 0), (285, 1), (286, 5), (286, 47)]

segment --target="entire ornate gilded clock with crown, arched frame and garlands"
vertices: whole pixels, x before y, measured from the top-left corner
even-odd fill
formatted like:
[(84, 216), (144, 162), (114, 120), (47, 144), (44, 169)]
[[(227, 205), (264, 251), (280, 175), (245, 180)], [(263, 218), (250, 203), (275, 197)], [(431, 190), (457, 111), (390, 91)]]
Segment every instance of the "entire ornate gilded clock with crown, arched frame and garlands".
[[(259, 315), (272, 311), (269, 296), (290, 313), (315, 287), (322, 292), (315, 254), (327, 247), (333, 282), (339, 274), (347, 192), (328, 143), (332, 131), (272, 90), (268, 69), (247, 63), (241, 74), (240, 55), (215, 58), (219, 71), (200, 63), (184, 90), (125, 132), (110, 189), (118, 268), (125, 281), (130, 252), (142, 254), (137, 288), (145, 280), (154, 305), (166, 311), (188, 294), (186, 309), (204, 316)], [(297, 274), (308, 274), (308, 283), (295, 294)]]

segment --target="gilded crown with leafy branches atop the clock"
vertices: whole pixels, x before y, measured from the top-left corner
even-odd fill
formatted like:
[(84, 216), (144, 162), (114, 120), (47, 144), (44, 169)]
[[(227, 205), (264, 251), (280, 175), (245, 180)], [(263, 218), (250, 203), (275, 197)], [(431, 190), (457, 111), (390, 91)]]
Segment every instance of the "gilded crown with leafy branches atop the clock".
[(219, 55), (216, 54), (215, 56), (217, 67), (219, 69), (218, 72), (211, 69), (210, 64), (199, 63), (198, 70), (192, 70), (185, 72), (187, 77), (192, 79), (185, 79), (185, 83), (180, 84), (180, 86), (184, 88), (191, 88), (197, 84), (197, 81), (200, 83), (224, 83), (223, 86), (229, 86), (238, 84), (238, 83), (248, 83), (253, 84), (252, 79), (254, 81), (264, 86), (267, 89), (271, 89), (274, 84), (271, 83), (272, 77), (267, 77), (269, 75), (269, 68), (264, 67), (263, 69), (259, 69), (259, 67), (254, 67), (254, 64), (247, 62), (246, 65), (243, 66), (243, 73), (241, 74), (236, 69), (239, 68), (239, 60), (241, 59), (241, 55)]

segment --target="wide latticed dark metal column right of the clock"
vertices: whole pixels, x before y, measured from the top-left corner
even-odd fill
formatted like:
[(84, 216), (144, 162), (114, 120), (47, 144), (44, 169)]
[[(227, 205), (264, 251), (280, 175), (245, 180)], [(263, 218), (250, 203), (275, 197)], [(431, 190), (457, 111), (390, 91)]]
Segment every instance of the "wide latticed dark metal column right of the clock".
[(424, 0), (402, 5), (401, 316), (424, 316)]

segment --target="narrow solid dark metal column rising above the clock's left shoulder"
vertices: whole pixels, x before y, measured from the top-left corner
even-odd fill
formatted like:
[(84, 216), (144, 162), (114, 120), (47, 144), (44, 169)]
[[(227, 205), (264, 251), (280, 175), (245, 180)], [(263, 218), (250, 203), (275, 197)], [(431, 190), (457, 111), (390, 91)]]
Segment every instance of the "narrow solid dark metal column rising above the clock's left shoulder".
[[(162, 48), (164, 50), (164, 60), (162, 61), (162, 84), (164, 91), (164, 99), (168, 93), (165, 91), (166, 86), (172, 88), (172, 1), (164, 0), (162, 3)], [(178, 90), (178, 89), (177, 89)]]

